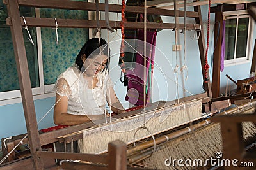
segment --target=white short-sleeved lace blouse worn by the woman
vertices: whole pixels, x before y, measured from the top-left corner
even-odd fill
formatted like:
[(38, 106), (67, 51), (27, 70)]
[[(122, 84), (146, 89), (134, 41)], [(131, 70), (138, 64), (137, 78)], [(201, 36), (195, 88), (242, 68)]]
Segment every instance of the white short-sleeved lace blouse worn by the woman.
[[(68, 97), (67, 113), (73, 115), (102, 115), (105, 112), (106, 94), (113, 87), (108, 73), (99, 72), (94, 89), (88, 88), (88, 82), (76, 64), (69, 67), (58, 77), (54, 90), (60, 96)], [(109, 96), (109, 95), (108, 95)]]

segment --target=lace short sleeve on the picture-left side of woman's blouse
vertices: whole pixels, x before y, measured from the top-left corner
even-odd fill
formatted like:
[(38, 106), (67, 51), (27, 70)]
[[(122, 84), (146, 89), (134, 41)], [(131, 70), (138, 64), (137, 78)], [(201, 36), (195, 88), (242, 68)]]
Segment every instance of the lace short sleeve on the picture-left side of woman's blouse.
[(60, 96), (70, 97), (70, 88), (65, 78), (60, 78), (56, 81), (54, 91)]

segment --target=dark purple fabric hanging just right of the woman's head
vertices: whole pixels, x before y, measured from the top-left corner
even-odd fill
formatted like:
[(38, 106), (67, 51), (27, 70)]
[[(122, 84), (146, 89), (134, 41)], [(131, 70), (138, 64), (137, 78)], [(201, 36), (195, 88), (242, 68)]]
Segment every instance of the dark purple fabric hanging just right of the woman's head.
[[(144, 104), (144, 82), (148, 80), (148, 71), (150, 71), (151, 62), (151, 76), (154, 66), (155, 46), (156, 46), (156, 31), (147, 31), (147, 45), (146, 45), (146, 80), (144, 80), (144, 31), (139, 30), (138, 40), (136, 44), (136, 63), (133, 70), (127, 70), (126, 76), (128, 78), (127, 94), (125, 100), (131, 104)], [(140, 55), (141, 54), (141, 55)], [(151, 79), (152, 80), (152, 79)], [(151, 82), (149, 82), (151, 83)], [(150, 88), (146, 92), (146, 104), (150, 102)]]

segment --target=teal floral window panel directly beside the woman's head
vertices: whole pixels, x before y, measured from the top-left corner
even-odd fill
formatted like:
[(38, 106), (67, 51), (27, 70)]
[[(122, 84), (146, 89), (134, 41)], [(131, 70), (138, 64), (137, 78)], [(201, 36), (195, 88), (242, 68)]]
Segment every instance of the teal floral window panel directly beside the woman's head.
[[(40, 17), (87, 19), (86, 11), (40, 9)], [(88, 29), (42, 28), (42, 51), (44, 64), (44, 84), (55, 83), (59, 74), (72, 66), (79, 50), (88, 40)]]

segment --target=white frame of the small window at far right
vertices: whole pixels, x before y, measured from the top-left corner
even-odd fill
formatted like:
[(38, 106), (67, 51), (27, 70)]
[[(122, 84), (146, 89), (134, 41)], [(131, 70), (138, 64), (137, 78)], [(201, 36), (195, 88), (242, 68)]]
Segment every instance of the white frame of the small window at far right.
[[(234, 59), (230, 59), (230, 60), (224, 60), (224, 65), (225, 66), (236, 66), (238, 64), (248, 63), (248, 62), (250, 62), (250, 59), (251, 59), (250, 53), (251, 53), (251, 50), (252, 50), (252, 37), (250, 36), (250, 34), (252, 34), (252, 32), (253, 32), (252, 17), (250, 17), (250, 15), (248, 14), (248, 10), (223, 12), (223, 20), (234, 19), (234, 18), (236, 18), (237, 20), (239, 18), (249, 18), (246, 56), (245, 57), (234, 58)], [(236, 57), (236, 49), (237, 49), (238, 24), (239, 24), (239, 22), (236, 22), (236, 40), (235, 40), (234, 57)]]

